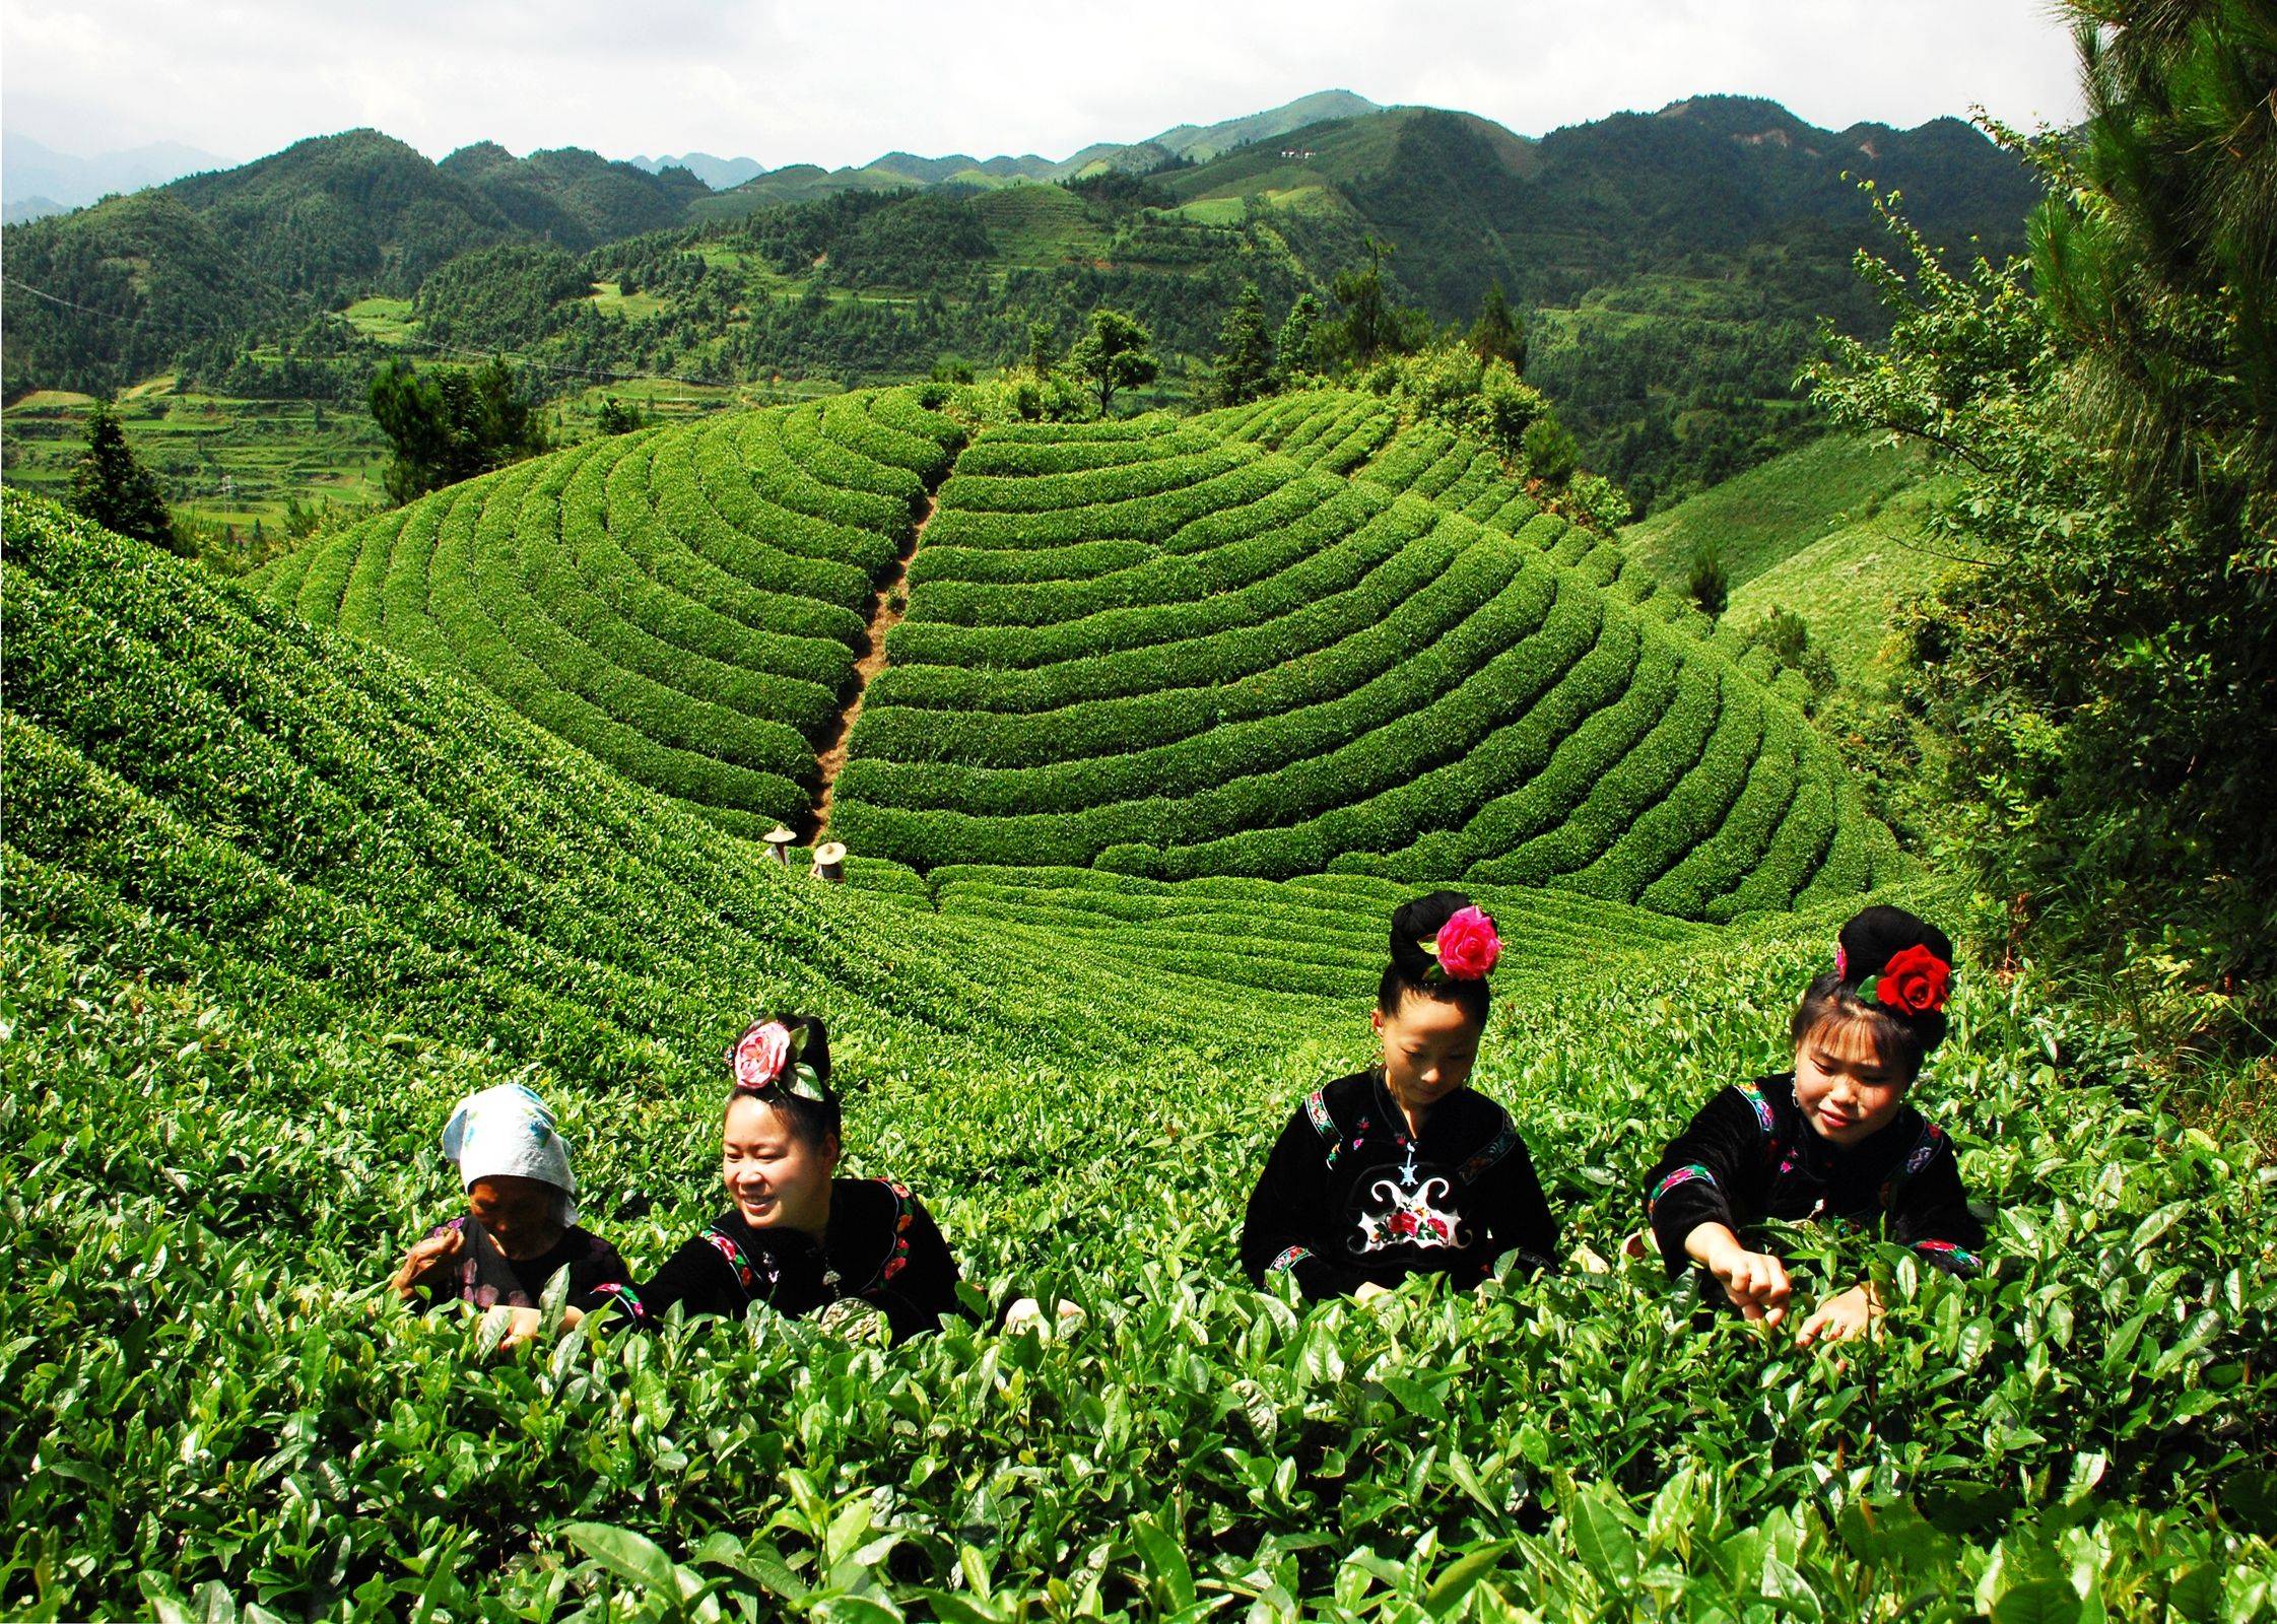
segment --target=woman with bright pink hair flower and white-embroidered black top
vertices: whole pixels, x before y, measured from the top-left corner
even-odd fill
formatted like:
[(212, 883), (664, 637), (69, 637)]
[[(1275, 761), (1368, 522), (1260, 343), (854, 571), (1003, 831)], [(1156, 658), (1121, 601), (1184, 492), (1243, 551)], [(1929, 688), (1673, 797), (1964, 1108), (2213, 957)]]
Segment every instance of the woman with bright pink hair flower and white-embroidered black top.
[(1314, 1091), (1250, 1194), (1241, 1266), (1307, 1298), (1378, 1296), (1416, 1273), (1473, 1287), (1516, 1253), (1557, 1255), (1557, 1221), (1510, 1112), (1471, 1086), (1503, 943), (1469, 897), (1391, 916), (1375, 995), (1380, 1059)]

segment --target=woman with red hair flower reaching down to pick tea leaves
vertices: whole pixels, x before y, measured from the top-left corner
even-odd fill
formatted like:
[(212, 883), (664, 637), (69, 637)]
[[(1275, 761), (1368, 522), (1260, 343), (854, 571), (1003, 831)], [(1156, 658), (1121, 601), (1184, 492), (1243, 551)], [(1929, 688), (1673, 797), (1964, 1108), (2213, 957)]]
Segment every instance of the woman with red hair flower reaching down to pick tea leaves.
[[(1646, 1214), (1669, 1273), (1776, 1326), (1794, 1282), (1749, 1244), (1765, 1219), (1885, 1228), (1951, 1273), (1976, 1273), (1983, 1223), (1970, 1212), (1945, 1132), (1906, 1102), (1945, 1041), (1954, 943), (1906, 909), (1874, 907), (1842, 927), (1835, 968), (1803, 991), (1787, 1032), (1794, 1071), (1740, 1082), (1701, 1107), (1651, 1171)], [(1860, 1282), (1822, 1301), (1799, 1344), (1872, 1328), (1881, 1301)]]

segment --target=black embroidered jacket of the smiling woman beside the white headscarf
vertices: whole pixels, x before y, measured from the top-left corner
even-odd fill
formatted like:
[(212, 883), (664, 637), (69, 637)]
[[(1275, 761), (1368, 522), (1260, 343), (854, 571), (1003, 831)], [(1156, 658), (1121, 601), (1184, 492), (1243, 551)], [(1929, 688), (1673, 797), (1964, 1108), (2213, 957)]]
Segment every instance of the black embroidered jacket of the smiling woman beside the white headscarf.
[(881, 1310), (895, 1342), (961, 1312), (947, 1241), (924, 1205), (893, 1180), (831, 1180), (822, 1241), (799, 1230), (754, 1230), (740, 1212), (726, 1212), (649, 1280), (603, 1285), (572, 1301), (585, 1312), (615, 1303), (635, 1323), (656, 1323), (674, 1303), (690, 1317), (742, 1319), (751, 1303), (797, 1317), (845, 1298)]

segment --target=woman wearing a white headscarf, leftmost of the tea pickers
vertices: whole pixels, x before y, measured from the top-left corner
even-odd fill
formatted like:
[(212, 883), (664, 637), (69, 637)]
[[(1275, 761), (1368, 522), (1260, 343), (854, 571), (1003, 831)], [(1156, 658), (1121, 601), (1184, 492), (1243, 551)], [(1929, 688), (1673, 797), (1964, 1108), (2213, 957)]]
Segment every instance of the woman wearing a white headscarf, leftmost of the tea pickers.
[(458, 1162), (467, 1212), (412, 1246), (392, 1282), (396, 1296), (428, 1307), (453, 1298), (537, 1307), (562, 1269), (572, 1294), (631, 1280), (617, 1248), (578, 1228), (569, 1143), (519, 1082), (460, 1100), (442, 1153)]

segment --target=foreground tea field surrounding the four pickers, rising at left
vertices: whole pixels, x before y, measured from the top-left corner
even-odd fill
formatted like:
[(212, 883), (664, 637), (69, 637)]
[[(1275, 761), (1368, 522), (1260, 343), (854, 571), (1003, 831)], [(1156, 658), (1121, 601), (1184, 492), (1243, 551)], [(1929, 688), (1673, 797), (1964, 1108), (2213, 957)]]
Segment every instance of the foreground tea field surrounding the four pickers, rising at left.
[[(1701, 929), (1489, 891), (1478, 1084), (1567, 1266), (1305, 1310), (1232, 1237), (1366, 1055), (1343, 989), (1396, 886), (1050, 875), (1022, 920), (988, 916), (1009, 877), (945, 872), (913, 911), (0, 503), (9, 1617), (2277, 1615), (2277, 1187), (2029, 970), (1963, 966), (1920, 1093), (1988, 1271), (1794, 1235), (1892, 1305), (1831, 1355), (1578, 1260), (1619, 1257), (1708, 1091), (1781, 1061), (1840, 907)], [(783, 1002), (831, 1016), (849, 1171), (924, 1196), (970, 1323), (501, 1353), (385, 1294), (458, 1200), (451, 1102), (508, 1077), (653, 1266), (715, 1212), (715, 1057)], [(1016, 1296), (1068, 1312), (1004, 1332)]]

